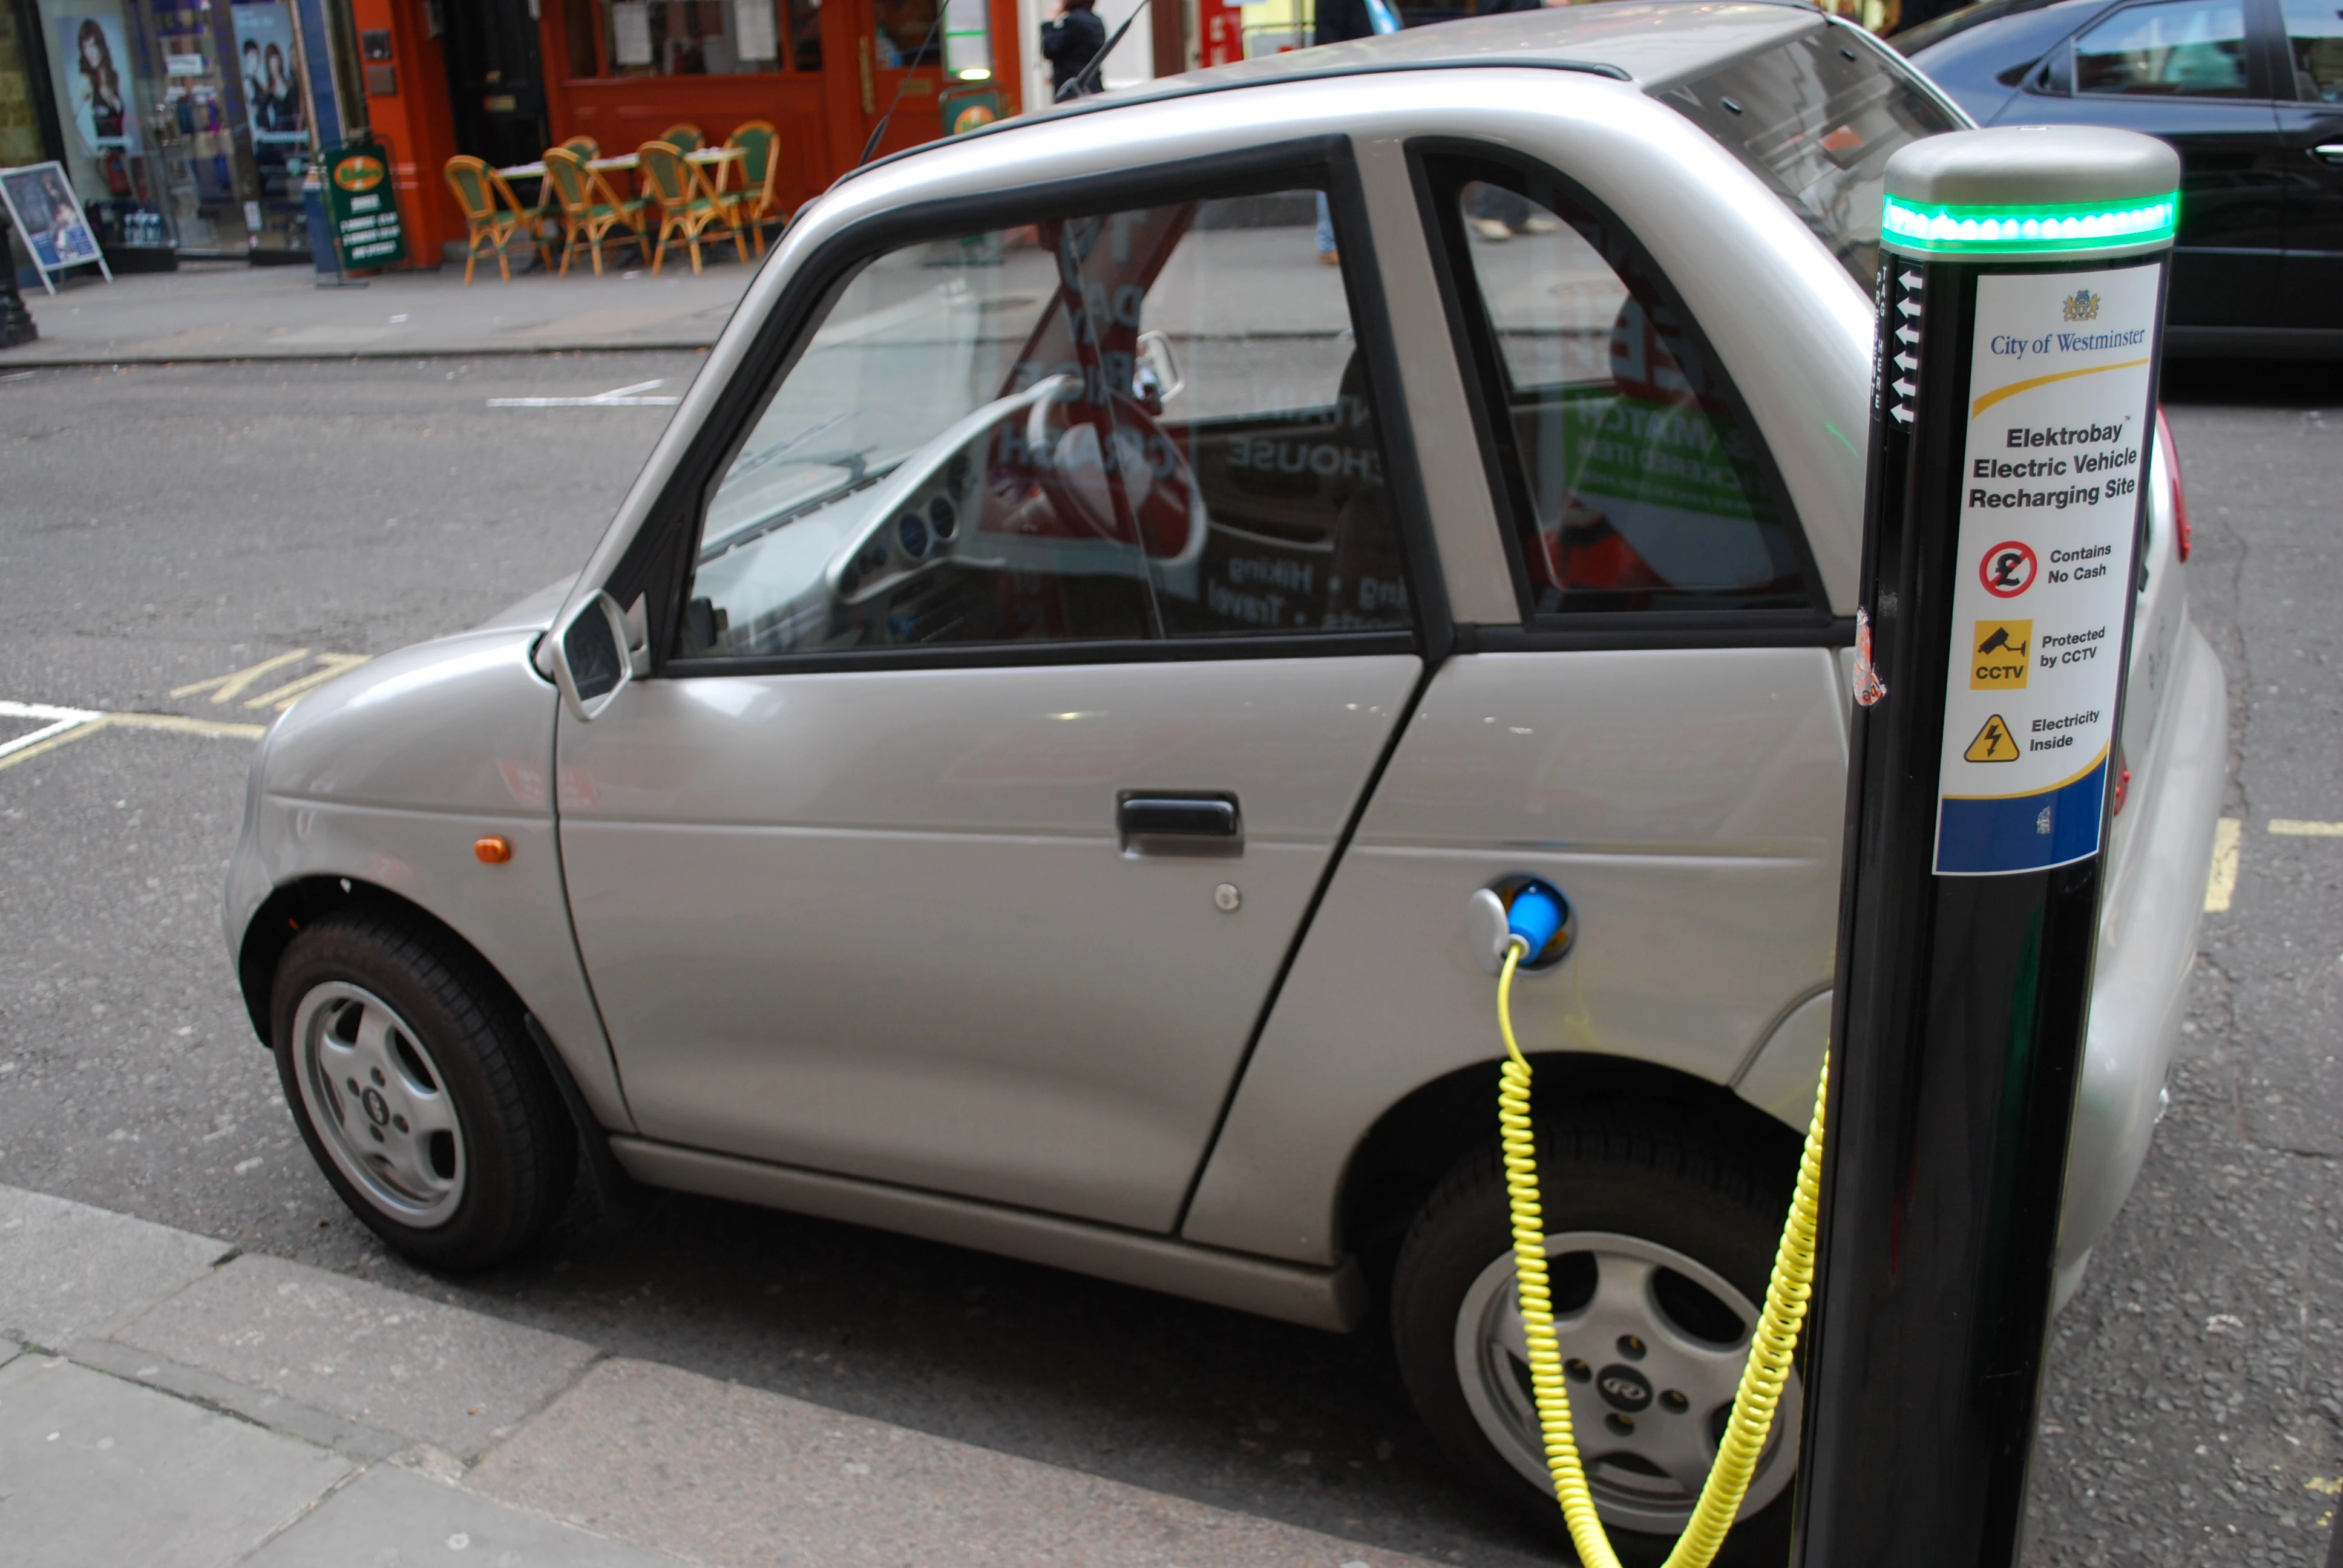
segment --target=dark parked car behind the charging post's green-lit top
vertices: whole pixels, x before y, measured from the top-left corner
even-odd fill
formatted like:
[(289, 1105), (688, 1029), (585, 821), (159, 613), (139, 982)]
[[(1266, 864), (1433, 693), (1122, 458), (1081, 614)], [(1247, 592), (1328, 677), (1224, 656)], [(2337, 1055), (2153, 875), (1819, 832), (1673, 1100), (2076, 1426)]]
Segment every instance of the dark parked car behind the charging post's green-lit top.
[(2179, 150), (2172, 349), (2343, 356), (2338, 0), (1985, 0), (1891, 42), (1977, 124)]

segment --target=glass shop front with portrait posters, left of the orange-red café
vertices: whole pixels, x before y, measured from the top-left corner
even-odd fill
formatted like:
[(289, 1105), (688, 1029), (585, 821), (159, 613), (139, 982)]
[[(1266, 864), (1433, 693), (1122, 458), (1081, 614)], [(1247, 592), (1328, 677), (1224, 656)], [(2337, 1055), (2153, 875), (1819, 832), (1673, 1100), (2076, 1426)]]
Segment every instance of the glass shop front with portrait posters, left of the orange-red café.
[(0, 0), (0, 164), (63, 164), (115, 272), (305, 263), (302, 171), (340, 136), (333, 5)]

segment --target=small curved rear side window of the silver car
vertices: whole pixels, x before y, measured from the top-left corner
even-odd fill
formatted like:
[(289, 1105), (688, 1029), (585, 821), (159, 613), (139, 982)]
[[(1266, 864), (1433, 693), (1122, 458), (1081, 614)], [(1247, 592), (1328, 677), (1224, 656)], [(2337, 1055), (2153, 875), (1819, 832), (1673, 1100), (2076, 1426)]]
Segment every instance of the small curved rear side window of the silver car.
[(1806, 607), (1750, 431), (1640, 251), (1537, 178), (1443, 178), (1530, 612)]

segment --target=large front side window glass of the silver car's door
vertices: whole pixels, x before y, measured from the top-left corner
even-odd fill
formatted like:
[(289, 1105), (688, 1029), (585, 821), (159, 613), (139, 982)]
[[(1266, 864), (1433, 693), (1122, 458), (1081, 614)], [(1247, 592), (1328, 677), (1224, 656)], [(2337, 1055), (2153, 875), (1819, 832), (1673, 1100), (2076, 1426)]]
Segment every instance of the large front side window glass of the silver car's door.
[(902, 246), (708, 502), (682, 652), (1406, 628), (1317, 192)]

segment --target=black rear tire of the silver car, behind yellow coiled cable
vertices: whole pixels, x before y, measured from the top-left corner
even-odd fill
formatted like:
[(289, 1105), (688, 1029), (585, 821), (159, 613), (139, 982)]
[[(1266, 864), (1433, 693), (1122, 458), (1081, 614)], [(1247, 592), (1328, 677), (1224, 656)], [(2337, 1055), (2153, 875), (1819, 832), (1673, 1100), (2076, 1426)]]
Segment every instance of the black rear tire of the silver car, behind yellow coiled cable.
[[(1774, 1249), (1790, 1209), (1797, 1148), (1736, 1137), (1692, 1111), (1586, 1106), (1567, 1120), (1539, 1120), (1537, 1174), (1546, 1235), (1617, 1233), (1682, 1254), (1748, 1303), (1764, 1303)], [(1570, 1535), (1549, 1486), (1530, 1481), (1492, 1441), (1464, 1390), (1457, 1334), (1476, 1280), (1514, 1247), (1504, 1165), (1497, 1141), (1460, 1160), (1432, 1191), (1399, 1252), (1392, 1277), (1392, 1336), (1418, 1413), (1448, 1458), (1528, 1528), (1570, 1552)], [(1682, 1277), (1682, 1275), (1678, 1275)], [(1570, 1280), (1556, 1268), (1556, 1310), (1570, 1305)], [(1507, 1296), (1509, 1298), (1509, 1296)], [(1708, 1301), (1715, 1301), (1713, 1296)], [(1570, 1348), (1565, 1345), (1565, 1355)], [(1785, 1399), (1788, 1406), (1788, 1399)], [(1572, 1383), (1579, 1446), (1605, 1409), (1586, 1383)], [(1654, 1411), (1652, 1418), (1659, 1413)], [(1788, 1411), (1776, 1432), (1788, 1432)], [(1771, 1455), (1771, 1451), (1769, 1451)], [(1530, 1463), (1537, 1463), (1535, 1458)], [(1769, 1458), (1769, 1470), (1776, 1458)], [(1795, 1451), (1788, 1460), (1795, 1465)], [(1720, 1563), (1776, 1566), (1790, 1556), (1790, 1498), (1783, 1486), (1724, 1540)], [(1605, 1521), (1607, 1523), (1607, 1521)], [(1671, 1535), (1607, 1523), (1626, 1563), (1659, 1563)]]

